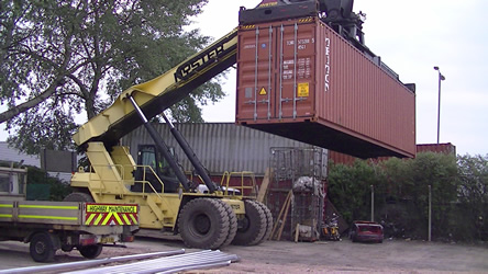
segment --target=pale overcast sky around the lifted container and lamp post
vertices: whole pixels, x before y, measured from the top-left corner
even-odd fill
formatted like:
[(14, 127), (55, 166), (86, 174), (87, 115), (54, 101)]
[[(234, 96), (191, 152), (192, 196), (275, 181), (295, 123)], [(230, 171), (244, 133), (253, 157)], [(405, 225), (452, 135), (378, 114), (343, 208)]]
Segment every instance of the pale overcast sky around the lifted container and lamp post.
[[(239, 24), (239, 8), (260, 0), (210, 0), (195, 20), (204, 35), (220, 38)], [(457, 153), (488, 155), (488, 31), (484, 0), (356, 0), (366, 13), (366, 45), (400, 75), (417, 84), (417, 142), (437, 138), (437, 71), (445, 76), (441, 95), (441, 142)], [(224, 83), (228, 96), (204, 107), (207, 122), (234, 122), (235, 70)], [(3, 125), (0, 140), (5, 140)]]

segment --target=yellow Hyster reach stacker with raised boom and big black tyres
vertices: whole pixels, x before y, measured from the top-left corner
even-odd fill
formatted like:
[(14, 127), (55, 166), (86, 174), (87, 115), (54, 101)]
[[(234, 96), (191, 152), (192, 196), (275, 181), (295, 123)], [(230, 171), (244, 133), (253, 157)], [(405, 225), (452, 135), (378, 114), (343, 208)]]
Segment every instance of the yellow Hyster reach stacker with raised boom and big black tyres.
[[(236, 61), (237, 30), (148, 82), (134, 85), (74, 135), (90, 161), (71, 179), (77, 192), (65, 201), (137, 204), (140, 227), (179, 233), (191, 248), (218, 249), (231, 242), (252, 246), (267, 239), (273, 228), (269, 209), (243, 191), (218, 185), (178, 130), (171, 133), (195, 167), (198, 185), (187, 179), (164, 140), (148, 123), (193, 89)], [(165, 117), (166, 119), (166, 117)], [(119, 139), (144, 125), (169, 165), (162, 175), (151, 165), (137, 165)], [(156, 153), (155, 151), (153, 153)], [(149, 157), (149, 156), (148, 156)], [(154, 157), (154, 155), (153, 155)]]

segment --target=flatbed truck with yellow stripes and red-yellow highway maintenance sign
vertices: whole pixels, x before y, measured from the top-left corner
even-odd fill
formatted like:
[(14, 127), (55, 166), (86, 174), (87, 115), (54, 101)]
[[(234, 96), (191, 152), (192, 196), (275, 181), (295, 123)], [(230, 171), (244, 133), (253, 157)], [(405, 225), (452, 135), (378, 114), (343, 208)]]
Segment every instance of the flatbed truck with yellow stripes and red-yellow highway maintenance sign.
[(59, 249), (95, 259), (104, 246), (133, 241), (138, 205), (25, 201), (25, 169), (0, 168), (1, 241), (30, 243), (36, 262), (53, 261)]

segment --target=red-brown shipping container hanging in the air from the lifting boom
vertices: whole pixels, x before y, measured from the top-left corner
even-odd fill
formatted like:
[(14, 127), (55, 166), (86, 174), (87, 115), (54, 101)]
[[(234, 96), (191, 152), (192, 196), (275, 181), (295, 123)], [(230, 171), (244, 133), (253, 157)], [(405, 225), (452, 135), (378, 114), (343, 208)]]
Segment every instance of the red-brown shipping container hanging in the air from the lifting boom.
[(239, 30), (236, 123), (359, 158), (415, 155), (415, 95), (318, 18)]

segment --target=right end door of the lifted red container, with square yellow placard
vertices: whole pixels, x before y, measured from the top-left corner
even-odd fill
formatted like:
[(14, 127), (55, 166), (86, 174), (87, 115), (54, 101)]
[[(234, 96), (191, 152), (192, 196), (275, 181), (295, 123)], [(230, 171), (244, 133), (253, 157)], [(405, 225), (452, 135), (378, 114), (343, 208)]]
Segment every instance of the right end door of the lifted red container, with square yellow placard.
[(277, 118), (303, 118), (313, 115), (315, 92), (315, 25), (306, 20), (277, 27), (279, 76)]

